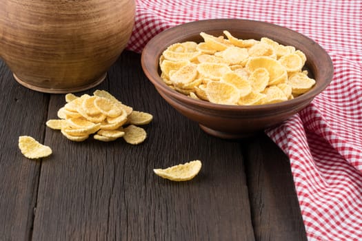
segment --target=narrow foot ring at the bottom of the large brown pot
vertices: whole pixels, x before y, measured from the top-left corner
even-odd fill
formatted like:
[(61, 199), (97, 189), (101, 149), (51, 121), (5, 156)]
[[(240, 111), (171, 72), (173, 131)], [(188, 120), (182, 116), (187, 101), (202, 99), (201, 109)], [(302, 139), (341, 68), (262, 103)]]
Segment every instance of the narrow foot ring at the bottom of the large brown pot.
[(107, 76), (107, 72), (105, 72), (101, 77), (94, 80), (92, 83), (89, 83), (88, 85), (81, 85), (74, 88), (45, 88), (45, 87), (39, 87), (37, 85), (32, 85), (30, 83), (27, 83), (26, 81), (21, 80), (16, 74), (12, 74), (15, 78), (15, 80), (23, 85), (24, 87), (27, 87), (30, 90), (35, 90), (38, 92), (44, 92), (44, 93), (50, 93), (50, 94), (68, 94), (68, 93), (74, 93), (74, 92), (81, 92), (83, 90), (89, 90), (92, 87), (95, 87), (102, 83), (105, 80), (105, 76)]

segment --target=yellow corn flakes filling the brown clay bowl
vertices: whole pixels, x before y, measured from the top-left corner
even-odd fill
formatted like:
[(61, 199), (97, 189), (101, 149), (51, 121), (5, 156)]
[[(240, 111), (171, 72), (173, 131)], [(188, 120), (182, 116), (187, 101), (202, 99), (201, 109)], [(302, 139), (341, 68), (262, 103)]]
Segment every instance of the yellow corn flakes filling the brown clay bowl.
[(302, 70), (306, 56), (263, 37), (237, 39), (230, 32), (204, 42), (174, 43), (159, 59), (161, 78), (191, 98), (223, 105), (263, 105), (308, 92), (316, 81)]

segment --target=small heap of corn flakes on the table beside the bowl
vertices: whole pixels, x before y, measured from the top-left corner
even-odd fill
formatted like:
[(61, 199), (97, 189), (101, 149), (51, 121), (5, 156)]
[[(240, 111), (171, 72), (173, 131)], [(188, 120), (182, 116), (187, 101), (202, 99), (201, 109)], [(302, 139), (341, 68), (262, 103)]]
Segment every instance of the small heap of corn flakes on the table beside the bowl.
[[(190, 51), (196, 49), (193, 43), (186, 43), (183, 47)], [(52, 129), (60, 129), (69, 140), (83, 141), (91, 134), (94, 134), (94, 139), (97, 140), (115, 140), (125, 135), (123, 125), (145, 125), (153, 118), (151, 114), (134, 111), (132, 107), (124, 105), (105, 90), (96, 90), (93, 96), (66, 96), (67, 108), (64, 105), (59, 109), (60, 119), (49, 120), (46, 125)], [(126, 139), (132, 144), (141, 143), (147, 134), (144, 129), (133, 125), (125, 128), (129, 132)]]

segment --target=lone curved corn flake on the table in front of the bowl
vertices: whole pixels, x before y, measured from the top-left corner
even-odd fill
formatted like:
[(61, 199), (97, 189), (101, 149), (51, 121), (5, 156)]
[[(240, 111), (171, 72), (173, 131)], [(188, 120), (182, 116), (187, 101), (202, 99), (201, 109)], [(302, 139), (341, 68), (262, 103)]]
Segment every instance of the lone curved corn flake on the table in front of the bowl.
[(200, 160), (192, 160), (188, 163), (175, 165), (166, 169), (153, 169), (154, 174), (173, 181), (191, 180), (201, 170), (202, 164)]

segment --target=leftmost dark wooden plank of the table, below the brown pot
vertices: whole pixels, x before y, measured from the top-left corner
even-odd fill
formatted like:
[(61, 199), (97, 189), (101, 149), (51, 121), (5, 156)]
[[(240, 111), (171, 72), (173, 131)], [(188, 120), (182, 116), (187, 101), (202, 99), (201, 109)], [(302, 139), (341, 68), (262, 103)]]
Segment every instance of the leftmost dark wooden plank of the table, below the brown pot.
[(49, 96), (19, 85), (2, 61), (0, 92), (0, 240), (28, 240), (41, 160), (25, 158), (18, 138), (43, 142)]

